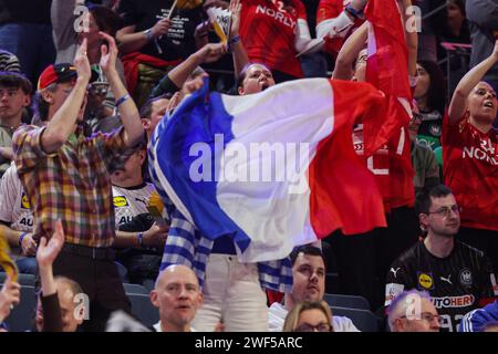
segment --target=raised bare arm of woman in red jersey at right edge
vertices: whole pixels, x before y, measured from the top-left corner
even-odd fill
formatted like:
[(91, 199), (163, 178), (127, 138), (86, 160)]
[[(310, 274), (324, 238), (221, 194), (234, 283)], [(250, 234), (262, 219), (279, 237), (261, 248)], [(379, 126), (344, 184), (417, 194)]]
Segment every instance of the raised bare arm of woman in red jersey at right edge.
[(449, 124), (457, 123), (467, 110), (467, 97), (470, 91), (479, 83), (483, 76), (498, 62), (498, 40), (495, 42), (495, 49), (491, 55), (486, 58), (478, 65), (474, 66), (464, 77), (461, 77), (455, 92), (453, 93), (452, 102), (449, 103)]

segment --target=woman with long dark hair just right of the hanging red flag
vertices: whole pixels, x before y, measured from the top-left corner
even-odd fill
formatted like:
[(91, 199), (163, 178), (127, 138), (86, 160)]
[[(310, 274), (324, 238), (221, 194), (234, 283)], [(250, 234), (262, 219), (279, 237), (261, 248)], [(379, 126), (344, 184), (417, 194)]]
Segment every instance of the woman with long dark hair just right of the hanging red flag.
[(414, 98), (422, 114), (417, 142), (434, 150), (440, 146), (446, 81), (443, 71), (432, 61), (418, 61), (417, 74)]

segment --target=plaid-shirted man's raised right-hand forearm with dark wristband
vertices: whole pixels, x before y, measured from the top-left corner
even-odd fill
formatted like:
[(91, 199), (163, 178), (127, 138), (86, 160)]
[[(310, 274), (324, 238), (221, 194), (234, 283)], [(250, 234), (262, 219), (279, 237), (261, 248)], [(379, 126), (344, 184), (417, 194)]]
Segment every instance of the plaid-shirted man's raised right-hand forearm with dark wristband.
[(100, 32), (100, 34), (108, 43), (108, 46), (105, 44), (101, 46), (101, 67), (108, 80), (114, 97), (117, 100), (116, 106), (125, 128), (125, 143), (127, 146), (134, 146), (144, 135), (141, 115), (116, 71), (116, 42), (111, 35), (104, 32)]

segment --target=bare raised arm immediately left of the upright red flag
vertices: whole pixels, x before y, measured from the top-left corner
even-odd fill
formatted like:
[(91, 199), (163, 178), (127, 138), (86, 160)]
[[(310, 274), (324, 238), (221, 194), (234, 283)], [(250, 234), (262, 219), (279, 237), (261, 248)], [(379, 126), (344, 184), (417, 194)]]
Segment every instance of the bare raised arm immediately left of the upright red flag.
[(347, 38), (339, 51), (332, 79), (351, 80), (353, 63), (365, 46), (367, 32), (369, 23), (365, 22)]

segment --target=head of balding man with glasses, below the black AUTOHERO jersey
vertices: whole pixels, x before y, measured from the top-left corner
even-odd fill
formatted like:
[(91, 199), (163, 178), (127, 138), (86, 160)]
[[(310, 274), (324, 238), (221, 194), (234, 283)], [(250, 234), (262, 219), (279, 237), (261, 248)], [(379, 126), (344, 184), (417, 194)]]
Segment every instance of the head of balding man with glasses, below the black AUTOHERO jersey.
[(404, 291), (391, 303), (391, 332), (439, 332), (439, 315), (426, 291)]

